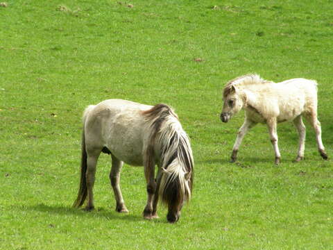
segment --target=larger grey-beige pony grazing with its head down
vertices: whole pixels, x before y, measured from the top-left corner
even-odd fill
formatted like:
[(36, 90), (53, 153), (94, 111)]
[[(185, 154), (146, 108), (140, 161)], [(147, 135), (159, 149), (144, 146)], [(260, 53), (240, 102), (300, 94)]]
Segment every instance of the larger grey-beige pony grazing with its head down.
[(189, 137), (178, 115), (166, 104), (148, 106), (109, 99), (87, 106), (83, 113), (81, 149), (80, 188), (73, 204), (76, 208), (87, 198), (85, 210), (94, 209), (94, 178), (102, 152), (112, 158), (110, 182), (117, 212), (128, 213), (119, 185), (123, 163), (144, 166), (148, 194), (145, 219), (158, 218), (160, 197), (168, 207), (167, 221), (177, 222), (182, 206), (191, 199), (194, 158)]

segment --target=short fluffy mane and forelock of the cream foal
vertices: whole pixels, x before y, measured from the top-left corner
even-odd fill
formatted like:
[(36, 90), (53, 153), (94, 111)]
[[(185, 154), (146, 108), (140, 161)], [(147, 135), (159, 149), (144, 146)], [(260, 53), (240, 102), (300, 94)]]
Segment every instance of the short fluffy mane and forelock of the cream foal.
[(266, 81), (261, 78), (258, 74), (246, 74), (244, 76), (239, 76), (237, 78), (232, 79), (223, 89), (223, 97), (227, 97), (230, 93), (232, 93), (233, 88), (241, 88), (246, 85), (253, 84), (264, 84), (271, 83), (270, 81)]

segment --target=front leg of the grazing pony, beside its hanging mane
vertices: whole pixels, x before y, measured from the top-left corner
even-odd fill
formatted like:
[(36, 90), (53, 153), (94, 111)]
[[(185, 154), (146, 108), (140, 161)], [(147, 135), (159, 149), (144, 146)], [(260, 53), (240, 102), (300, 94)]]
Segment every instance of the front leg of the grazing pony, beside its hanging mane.
[(153, 213), (153, 199), (156, 192), (156, 182), (155, 182), (155, 160), (150, 160), (144, 165), (144, 176), (146, 177), (147, 183), (147, 194), (148, 199), (146, 207), (144, 208), (144, 218), (145, 219), (154, 219), (157, 218), (156, 210)]

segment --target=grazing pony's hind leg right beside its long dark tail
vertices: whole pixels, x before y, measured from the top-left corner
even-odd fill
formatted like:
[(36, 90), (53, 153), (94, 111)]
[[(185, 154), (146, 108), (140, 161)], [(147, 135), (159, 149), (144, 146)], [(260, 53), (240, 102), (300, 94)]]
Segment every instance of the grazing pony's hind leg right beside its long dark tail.
[(87, 194), (88, 201), (85, 210), (90, 211), (94, 209), (94, 193), (92, 192), (95, 183), (95, 174), (96, 174), (96, 165), (97, 160), (99, 159), (99, 153), (87, 154), (87, 172), (86, 172), (86, 180), (87, 180)]

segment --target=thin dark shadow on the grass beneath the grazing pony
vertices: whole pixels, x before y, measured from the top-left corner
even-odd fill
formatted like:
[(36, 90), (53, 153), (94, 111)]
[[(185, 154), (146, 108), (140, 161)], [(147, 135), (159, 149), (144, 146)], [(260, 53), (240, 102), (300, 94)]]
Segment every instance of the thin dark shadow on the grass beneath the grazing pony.
[(105, 210), (103, 208), (97, 208), (91, 212), (87, 212), (82, 208), (69, 208), (65, 206), (48, 206), (40, 203), (35, 206), (24, 206), (24, 210), (32, 210), (42, 213), (53, 213), (56, 215), (76, 215), (82, 217), (102, 217), (104, 219), (123, 219), (131, 222), (144, 221), (141, 215), (121, 214), (115, 211)]

